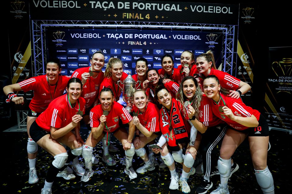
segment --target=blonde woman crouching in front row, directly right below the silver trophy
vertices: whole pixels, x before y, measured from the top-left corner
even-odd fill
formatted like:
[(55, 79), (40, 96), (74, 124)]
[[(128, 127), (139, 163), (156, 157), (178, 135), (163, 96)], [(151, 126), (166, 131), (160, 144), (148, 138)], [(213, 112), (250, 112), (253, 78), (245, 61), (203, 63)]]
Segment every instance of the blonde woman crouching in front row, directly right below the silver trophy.
[(137, 128), (137, 137), (133, 141), (135, 153), (145, 162), (144, 166), (138, 168), (136, 172), (143, 173), (154, 170), (155, 163), (158, 165), (152, 148), (149, 147), (148, 157), (144, 146), (152, 142), (158, 135), (161, 135), (159, 129), (159, 110), (155, 104), (148, 102), (146, 92), (141, 89), (134, 92), (133, 99), (133, 123)]

